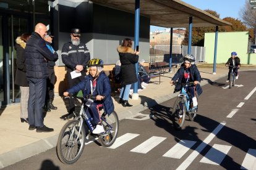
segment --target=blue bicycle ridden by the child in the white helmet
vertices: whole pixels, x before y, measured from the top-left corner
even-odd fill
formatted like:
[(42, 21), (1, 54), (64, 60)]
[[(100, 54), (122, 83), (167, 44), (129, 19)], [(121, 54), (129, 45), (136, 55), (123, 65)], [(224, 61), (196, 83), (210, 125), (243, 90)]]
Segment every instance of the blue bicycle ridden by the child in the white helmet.
[[(176, 85), (176, 83), (174, 83)], [(181, 130), (185, 123), (186, 115), (189, 116), (190, 121), (194, 121), (195, 116), (197, 116), (197, 109), (193, 107), (193, 102), (190, 97), (189, 92), (187, 92), (187, 87), (194, 86), (194, 82), (181, 84), (181, 92), (177, 96), (176, 101), (173, 105), (172, 118), (173, 126), (176, 130)]]

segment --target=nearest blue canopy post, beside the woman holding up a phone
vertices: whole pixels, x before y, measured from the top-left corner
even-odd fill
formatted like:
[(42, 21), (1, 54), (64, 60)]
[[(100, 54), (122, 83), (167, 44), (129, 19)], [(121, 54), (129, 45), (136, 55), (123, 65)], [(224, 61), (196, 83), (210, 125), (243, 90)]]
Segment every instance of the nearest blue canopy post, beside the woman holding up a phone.
[[(135, 0), (135, 30), (134, 30), (134, 49), (139, 46), (139, 33), (140, 33), (140, 0)], [(139, 72), (139, 63), (135, 64), (136, 75)], [(138, 82), (134, 83), (134, 92), (132, 93), (132, 99), (138, 100)]]

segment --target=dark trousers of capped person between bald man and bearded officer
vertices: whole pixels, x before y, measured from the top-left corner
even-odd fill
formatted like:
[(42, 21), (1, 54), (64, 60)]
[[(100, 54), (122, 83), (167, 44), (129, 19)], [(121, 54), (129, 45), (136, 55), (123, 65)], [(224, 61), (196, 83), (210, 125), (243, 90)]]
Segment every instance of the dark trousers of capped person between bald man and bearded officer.
[(49, 77), (47, 79), (47, 88), (46, 88), (46, 97), (45, 97), (45, 103), (49, 100), (53, 101), (54, 99), (54, 84), (56, 81), (54, 68), (49, 68)]

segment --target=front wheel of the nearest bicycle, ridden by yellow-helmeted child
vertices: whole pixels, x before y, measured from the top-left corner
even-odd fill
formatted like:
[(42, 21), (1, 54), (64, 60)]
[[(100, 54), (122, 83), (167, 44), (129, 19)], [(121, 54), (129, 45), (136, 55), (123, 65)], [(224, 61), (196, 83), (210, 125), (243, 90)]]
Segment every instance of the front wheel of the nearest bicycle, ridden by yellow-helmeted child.
[[(82, 129), (79, 133), (79, 128)], [(59, 160), (64, 164), (75, 163), (83, 153), (85, 147), (85, 127), (79, 120), (68, 121), (59, 133), (57, 153)]]

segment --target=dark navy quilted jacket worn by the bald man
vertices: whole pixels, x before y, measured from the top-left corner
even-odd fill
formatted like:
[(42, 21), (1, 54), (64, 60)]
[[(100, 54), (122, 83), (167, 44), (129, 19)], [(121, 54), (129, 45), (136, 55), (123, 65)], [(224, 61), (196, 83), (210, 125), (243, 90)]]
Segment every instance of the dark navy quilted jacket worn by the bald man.
[(27, 78), (48, 78), (48, 61), (58, 59), (58, 54), (54, 54), (46, 47), (38, 33), (32, 33), (25, 47), (25, 64), (27, 68)]

